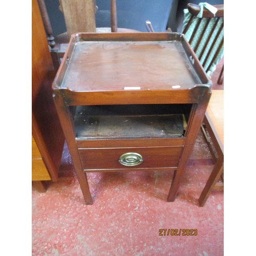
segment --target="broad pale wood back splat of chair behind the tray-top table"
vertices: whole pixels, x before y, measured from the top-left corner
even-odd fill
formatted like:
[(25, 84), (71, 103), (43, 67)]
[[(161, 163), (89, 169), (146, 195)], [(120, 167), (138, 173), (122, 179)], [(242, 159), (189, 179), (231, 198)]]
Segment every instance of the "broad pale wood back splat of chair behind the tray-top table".
[(60, 0), (68, 37), (77, 32), (96, 32), (94, 0)]

